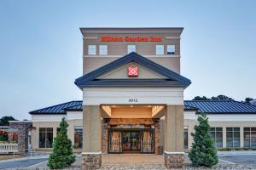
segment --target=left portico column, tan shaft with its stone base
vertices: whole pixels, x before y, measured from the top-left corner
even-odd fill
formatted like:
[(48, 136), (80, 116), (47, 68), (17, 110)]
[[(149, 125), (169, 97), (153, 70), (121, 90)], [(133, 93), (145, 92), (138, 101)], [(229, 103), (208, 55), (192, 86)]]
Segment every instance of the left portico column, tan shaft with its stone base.
[(83, 106), (83, 170), (98, 169), (102, 166), (101, 117), (99, 105)]

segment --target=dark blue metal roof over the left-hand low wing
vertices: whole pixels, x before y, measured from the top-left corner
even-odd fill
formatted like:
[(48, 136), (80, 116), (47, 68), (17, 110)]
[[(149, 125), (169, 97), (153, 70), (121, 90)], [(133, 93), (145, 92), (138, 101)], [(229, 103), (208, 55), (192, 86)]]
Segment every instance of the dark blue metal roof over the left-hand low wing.
[(81, 100), (69, 101), (67, 103), (52, 105), (36, 111), (30, 111), (29, 114), (31, 115), (33, 114), (66, 114), (66, 109), (69, 109), (78, 105), (82, 107), (82, 103), (83, 101)]

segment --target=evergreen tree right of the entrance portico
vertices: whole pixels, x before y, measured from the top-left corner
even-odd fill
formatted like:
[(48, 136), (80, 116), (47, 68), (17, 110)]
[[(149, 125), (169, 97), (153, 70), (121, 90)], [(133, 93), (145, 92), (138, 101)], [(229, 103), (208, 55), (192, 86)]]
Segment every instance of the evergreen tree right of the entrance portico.
[(194, 142), (189, 151), (189, 159), (193, 167), (212, 167), (218, 163), (217, 150), (209, 133), (210, 125), (206, 114), (197, 118), (195, 133), (191, 133)]

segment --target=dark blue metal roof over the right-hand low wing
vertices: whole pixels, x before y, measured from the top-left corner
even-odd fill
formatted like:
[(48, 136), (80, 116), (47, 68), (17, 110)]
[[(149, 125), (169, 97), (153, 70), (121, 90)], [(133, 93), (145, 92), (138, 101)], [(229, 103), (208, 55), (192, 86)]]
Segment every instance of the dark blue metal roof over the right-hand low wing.
[(256, 105), (234, 100), (185, 100), (184, 105), (196, 107), (199, 112), (207, 114), (256, 113)]

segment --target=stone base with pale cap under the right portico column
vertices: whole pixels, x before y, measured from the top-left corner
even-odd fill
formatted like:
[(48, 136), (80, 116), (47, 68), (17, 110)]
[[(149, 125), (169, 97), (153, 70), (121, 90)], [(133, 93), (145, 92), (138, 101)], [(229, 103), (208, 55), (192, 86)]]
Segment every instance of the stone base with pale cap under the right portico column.
[(165, 166), (167, 169), (182, 168), (185, 166), (183, 152), (164, 152)]

